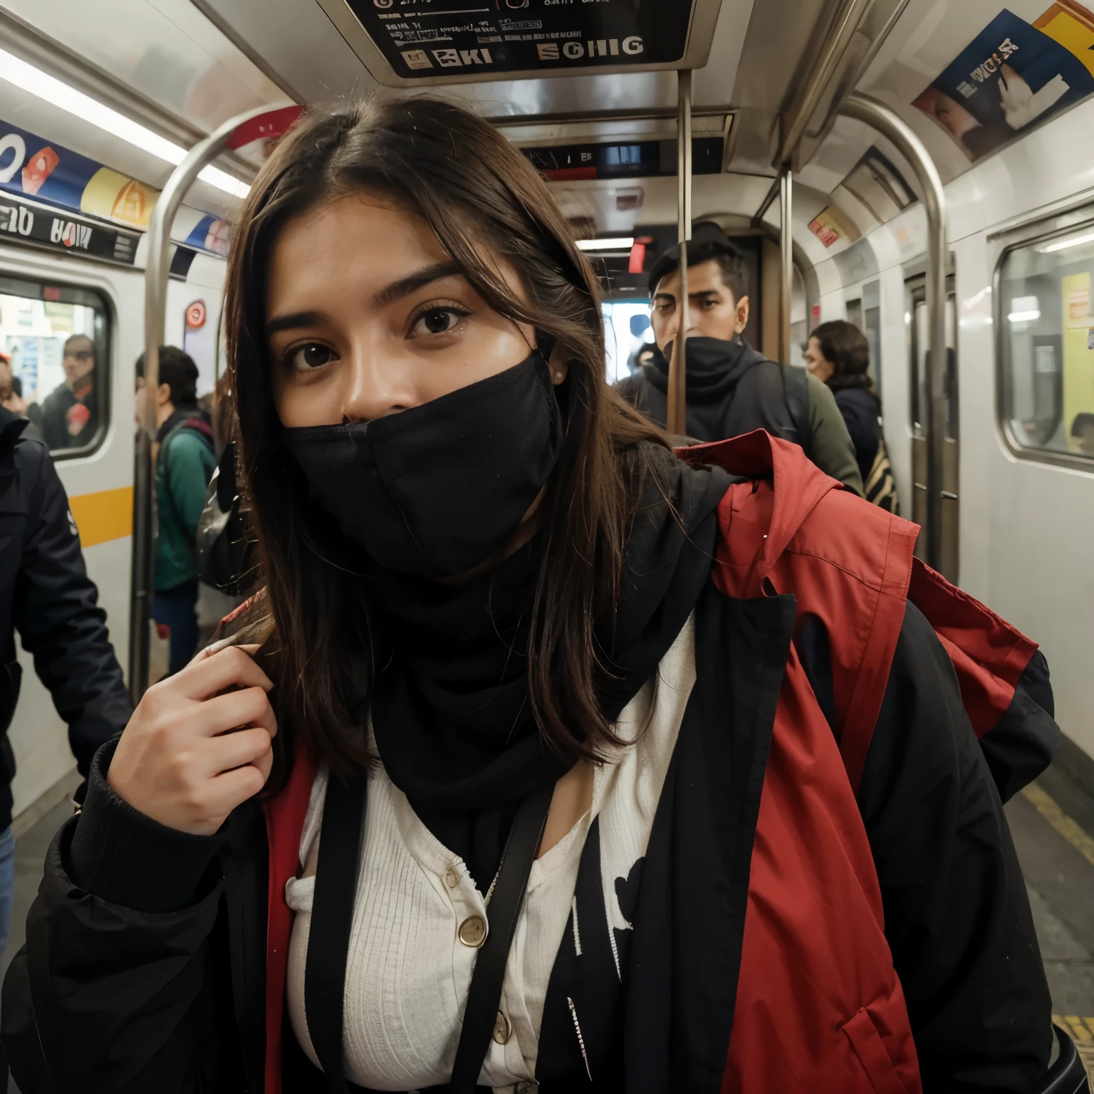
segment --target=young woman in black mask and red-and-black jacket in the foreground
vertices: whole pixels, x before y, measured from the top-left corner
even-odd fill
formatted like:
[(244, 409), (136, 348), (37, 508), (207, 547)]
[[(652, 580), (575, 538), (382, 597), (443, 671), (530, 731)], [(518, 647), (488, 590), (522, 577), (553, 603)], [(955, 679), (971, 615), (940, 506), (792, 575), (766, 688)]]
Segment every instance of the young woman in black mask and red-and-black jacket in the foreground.
[(311, 116), (226, 314), (265, 591), (49, 851), (21, 1089), (1045, 1074), (1001, 806), (1044, 659), (800, 449), (678, 459), (516, 149), (428, 98)]

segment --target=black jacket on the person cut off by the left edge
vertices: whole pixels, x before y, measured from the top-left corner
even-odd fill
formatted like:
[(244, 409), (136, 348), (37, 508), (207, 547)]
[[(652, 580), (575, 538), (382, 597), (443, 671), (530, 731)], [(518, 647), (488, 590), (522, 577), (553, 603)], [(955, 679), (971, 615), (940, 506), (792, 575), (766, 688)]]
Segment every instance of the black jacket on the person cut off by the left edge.
[(11, 824), (15, 775), (8, 728), (22, 678), (16, 630), (68, 723), (81, 775), (132, 713), (65, 487), (28, 424), (0, 407), (0, 830)]

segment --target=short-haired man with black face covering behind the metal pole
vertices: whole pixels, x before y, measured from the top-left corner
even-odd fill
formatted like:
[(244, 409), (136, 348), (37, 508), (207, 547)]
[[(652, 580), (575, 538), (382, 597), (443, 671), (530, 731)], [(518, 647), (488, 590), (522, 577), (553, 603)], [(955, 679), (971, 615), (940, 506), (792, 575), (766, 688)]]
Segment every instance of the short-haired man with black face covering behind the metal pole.
[[(766, 429), (800, 444), (825, 473), (862, 496), (862, 476), (842, 415), (828, 387), (804, 369), (780, 365), (745, 341), (748, 270), (715, 224), (696, 225), (688, 245), (687, 437), (722, 441)], [(651, 323), (659, 352), (616, 387), (662, 428), (668, 417), (668, 361), (679, 328), (679, 249), (650, 275)]]

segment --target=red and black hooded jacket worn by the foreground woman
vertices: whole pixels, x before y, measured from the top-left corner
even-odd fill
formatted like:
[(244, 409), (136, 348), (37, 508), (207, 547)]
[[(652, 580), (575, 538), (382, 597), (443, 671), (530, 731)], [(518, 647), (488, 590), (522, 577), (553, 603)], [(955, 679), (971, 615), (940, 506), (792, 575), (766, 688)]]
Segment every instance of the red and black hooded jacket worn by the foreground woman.
[[(590, 1089), (1029, 1089), (1049, 999), (1002, 799), (1055, 750), (1044, 659), (912, 558), (913, 525), (795, 445), (756, 433), (685, 457), (745, 481), (720, 504), (696, 608), (621, 1055)], [(201, 839), (114, 798), (109, 755), (50, 848), (4, 984), (20, 1089), (323, 1089), (287, 1078), (283, 1035), (311, 765)], [(97, 850), (73, 861), (78, 825)], [(573, 1089), (550, 991), (545, 1092)]]

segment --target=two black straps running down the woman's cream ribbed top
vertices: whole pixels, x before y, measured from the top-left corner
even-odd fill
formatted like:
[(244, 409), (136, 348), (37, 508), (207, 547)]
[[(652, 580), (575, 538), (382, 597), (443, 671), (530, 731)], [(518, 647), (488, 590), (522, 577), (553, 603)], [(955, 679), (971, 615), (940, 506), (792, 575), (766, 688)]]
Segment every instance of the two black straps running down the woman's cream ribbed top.
[[(304, 1012), (312, 1047), (337, 1094), (359, 1090), (342, 1073), (346, 962), (360, 873), (368, 777), (327, 784), (315, 869), (315, 897), (304, 965)], [(464, 1025), (449, 1094), (474, 1094), (498, 1016), (505, 963), (524, 904), (528, 875), (543, 839), (554, 785), (525, 799), (516, 811), (490, 895), (489, 934), (472, 975)]]

